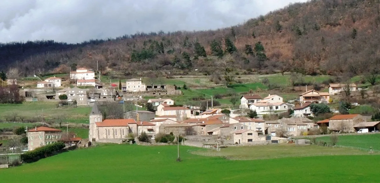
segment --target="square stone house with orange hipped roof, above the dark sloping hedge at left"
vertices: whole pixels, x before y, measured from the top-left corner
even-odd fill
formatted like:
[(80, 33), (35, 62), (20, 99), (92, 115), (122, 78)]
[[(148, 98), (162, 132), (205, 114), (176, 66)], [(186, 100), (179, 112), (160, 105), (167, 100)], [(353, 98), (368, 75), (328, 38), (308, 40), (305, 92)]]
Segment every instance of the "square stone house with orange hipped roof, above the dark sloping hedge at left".
[(61, 139), (62, 130), (48, 127), (35, 127), (27, 131), (28, 150), (34, 150), (48, 144), (54, 144)]

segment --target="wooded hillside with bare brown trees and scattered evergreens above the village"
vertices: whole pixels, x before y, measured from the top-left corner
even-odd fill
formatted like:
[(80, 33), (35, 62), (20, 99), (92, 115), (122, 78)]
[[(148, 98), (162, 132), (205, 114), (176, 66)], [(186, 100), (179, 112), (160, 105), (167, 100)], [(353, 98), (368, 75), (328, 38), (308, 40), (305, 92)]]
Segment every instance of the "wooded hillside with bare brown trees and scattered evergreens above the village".
[(69, 67), (121, 70), (215, 70), (231, 55), (239, 69), (263, 73), (363, 74), (380, 64), (379, 0), (295, 3), (242, 25), (209, 31), (136, 33), (81, 44), (37, 41), (0, 45), (10, 76), (67, 72)]

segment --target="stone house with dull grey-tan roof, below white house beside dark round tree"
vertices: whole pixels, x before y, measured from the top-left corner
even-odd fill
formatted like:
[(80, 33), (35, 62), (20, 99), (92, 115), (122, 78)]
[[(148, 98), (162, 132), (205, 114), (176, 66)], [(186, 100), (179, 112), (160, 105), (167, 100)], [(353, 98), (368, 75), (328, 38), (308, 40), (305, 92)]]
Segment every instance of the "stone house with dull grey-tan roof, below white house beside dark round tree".
[(285, 136), (304, 135), (314, 127), (314, 121), (309, 118), (283, 118), (279, 119), (280, 130), (284, 130)]

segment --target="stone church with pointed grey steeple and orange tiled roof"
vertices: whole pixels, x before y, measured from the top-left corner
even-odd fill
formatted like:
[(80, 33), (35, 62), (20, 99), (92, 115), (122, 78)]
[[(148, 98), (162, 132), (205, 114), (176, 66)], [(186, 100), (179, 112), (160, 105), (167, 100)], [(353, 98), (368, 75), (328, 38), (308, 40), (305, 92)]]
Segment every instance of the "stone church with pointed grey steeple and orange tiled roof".
[(126, 140), (128, 134), (137, 135), (138, 126), (135, 119), (105, 119), (94, 103), (90, 113), (89, 140), (101, 143), (119, 143)]

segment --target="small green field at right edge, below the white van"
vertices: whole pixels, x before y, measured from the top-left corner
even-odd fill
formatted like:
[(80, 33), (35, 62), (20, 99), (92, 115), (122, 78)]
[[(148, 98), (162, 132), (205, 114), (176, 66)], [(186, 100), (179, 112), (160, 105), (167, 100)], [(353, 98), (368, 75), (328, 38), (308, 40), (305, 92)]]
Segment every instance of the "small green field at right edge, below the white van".
[[(318, 137), (317, 140), (331, 144), (330, 136)], [(361, 147), (365, 149), (372, 147), (375, 150), (380, 150), (380, 134), (339, 135), (337, 145)]]

